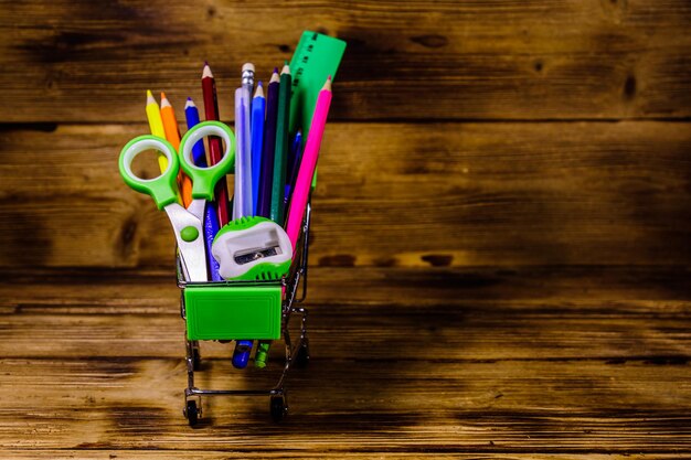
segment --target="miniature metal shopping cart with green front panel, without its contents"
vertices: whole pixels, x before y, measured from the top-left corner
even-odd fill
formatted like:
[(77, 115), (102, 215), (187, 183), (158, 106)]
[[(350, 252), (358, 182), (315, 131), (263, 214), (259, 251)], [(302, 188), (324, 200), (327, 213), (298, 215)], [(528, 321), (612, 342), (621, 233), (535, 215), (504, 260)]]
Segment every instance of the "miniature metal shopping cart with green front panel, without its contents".
[[(185, 363), (188, 386), (183, 415), (190, 426), (202, 417), (204, 396), (269, 396), (269, 413), (280, 421), (288, 413), (286, 378), (295, 365), (309, 361), (307, 309), (298, 307), (307, 295), (309, 226), (308, 203), (302, 236), (295, 252), (289, 274), (278, 280), (189, 282), (182, 279), (178, 258), (178, 286), (181, 289), (180, 313), (185, 320)], [(300, 289), (301, 288), (301, 289)], [(288, 325), (293, 314), (300, 318), (300, 335), (294, 343)], [(285, 343), (285, 364), (278, 382), (264, 389), (202, 389), (194, 385), (194, 372), (201, 368), (200, 342), (204, 340), (279, 340)]]

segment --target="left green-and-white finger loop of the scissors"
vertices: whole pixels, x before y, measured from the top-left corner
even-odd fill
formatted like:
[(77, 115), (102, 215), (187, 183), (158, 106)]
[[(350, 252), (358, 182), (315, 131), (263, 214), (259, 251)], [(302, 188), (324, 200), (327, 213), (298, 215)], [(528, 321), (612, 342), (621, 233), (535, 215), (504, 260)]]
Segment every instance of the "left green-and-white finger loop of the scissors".
[[(132, 161), (139, 153), (149, 149), (158, 150), (163, 153), (166, 158), (168, 158), (168, 168), (157, 178), (141, 179), (132, 172)], [(151, 195), (159, 210), (178, 201), (177, 179), (179, 164), (180, 162), (176, 154), (176, 149), (170, 142), (157, 136), (139, 136), (130, 140), (123, 147), (118, 161), (120, 175), (125, 180), (125, 183), (137, 192)]]

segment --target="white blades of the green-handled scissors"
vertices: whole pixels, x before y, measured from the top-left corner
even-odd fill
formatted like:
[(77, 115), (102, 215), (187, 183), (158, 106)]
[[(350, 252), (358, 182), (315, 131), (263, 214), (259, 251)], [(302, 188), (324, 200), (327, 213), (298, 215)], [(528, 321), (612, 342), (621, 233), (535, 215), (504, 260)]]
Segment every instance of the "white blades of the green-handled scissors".
[[(164, 211), (176, 234), (182, 265), (187, 268), (187, 280), (209, 281), (202, 222), (178, 203), (169, 204), (164, 207)], [(182, 238), (182, 231), (188, 227), (196, 229), (196, 238), (190, 242), (185, 242)], [(185, 232), (190, 233), (190, 231)]]

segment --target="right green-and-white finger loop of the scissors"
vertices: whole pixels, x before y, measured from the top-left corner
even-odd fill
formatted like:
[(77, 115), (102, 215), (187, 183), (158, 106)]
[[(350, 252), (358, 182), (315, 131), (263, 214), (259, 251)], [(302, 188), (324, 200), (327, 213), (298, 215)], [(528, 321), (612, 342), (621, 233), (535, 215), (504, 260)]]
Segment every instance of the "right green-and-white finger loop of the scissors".
[[(223, 158), (209, 168), (199, 168), (192, 158), (192, 147), (206, 136), (217, 136), (225, 142)], [(235, 163), (235, 136), (227, 125), (204, 121), (191, 128), (180, 141), (180, 164), (192, 179), (192, 197), (213, 201), (216, 182), (227, 174)]]

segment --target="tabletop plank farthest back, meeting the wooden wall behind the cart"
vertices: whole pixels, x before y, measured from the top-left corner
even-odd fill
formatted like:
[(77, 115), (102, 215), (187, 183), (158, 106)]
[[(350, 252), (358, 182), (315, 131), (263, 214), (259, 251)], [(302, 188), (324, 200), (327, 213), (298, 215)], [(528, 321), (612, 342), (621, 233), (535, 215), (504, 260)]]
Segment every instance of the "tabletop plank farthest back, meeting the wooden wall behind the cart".
[[(674, 267), (319, 268), (306, 302), (310, 343), (322, 360), (684, 362), (688, 276)], [(0, 279), (2, 356), (183, 354), (169, 276), (28, 271)], [(226, 359), (230, 347), (206, 342), (202, 352)]]

